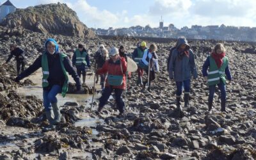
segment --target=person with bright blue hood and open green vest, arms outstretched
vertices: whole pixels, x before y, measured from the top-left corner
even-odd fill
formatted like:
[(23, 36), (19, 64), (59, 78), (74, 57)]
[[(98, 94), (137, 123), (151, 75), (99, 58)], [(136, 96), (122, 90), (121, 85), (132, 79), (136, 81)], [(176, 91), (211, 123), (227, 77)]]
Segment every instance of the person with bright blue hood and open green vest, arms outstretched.
[(57, 105), (56, 95), (61, 93), (65, 97), (68, 90), (68, 74), (72, 75), (74, 81), (76, 81), (77, 91), (81, 90), (81, 81), (76, 73), (76, 68), (72, 67), (68, 56), (59, 51), (58, 44), (54, 39), (47, 39), (45, 50), (30, 67), (15, 78), (15, 81), (19, 82), (42, 67), (44, 110), (50, 124), (44, 128), (44, 131), (51, 131), (61, 121), (60, 107)]

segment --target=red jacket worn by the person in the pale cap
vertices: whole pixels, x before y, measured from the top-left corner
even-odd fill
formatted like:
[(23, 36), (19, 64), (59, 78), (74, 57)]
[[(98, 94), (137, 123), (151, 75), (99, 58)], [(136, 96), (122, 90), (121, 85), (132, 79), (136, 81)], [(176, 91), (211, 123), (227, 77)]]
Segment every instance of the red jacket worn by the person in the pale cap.
[[(122, 63), (122, 68), (120, 65), (120, 60)], [(123, 72), (122, 72), (123, 70)], [(99, 68), (97, 74), (112, 74), (112, 75), (123, 75), (123, 83), (120, 86), (113, 86), (113, 88), (120, 88), (125, 90), (125, 84), (126, 84), (126, 78), (125, 78), (125, 72), (127, 71), (127, 62), (125, 61), (125, 58), (120, 57), (119, 60), (117, 60), (115, 63), (113, 60), (109, 59), (107, 60), (102, 68)], [(106, 78), (106, 84), (105, 86), (109, 86), (108, 84), (108, 78)]]

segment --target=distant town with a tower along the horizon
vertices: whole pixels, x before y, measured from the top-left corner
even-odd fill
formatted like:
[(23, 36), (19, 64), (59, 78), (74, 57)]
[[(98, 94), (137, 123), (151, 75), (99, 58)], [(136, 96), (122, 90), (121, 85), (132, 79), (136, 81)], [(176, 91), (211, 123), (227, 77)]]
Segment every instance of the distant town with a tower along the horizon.
[(161, 38), (178, 38), (186, 36), (191, 39), (215, 39), (215, 40), (231, 40), (256, 42), (256, 27), (235, 27), (235, 26), (187, 26), (176, 28), (173, 24), (164, 26), (163, 20), (159, 22), (158, 28), (151, 28), (149, 25), (132, 26), (130, 28), (92, 28), (97, 35), (109, 36), (145, 36), (145, 37), (161, 37)]

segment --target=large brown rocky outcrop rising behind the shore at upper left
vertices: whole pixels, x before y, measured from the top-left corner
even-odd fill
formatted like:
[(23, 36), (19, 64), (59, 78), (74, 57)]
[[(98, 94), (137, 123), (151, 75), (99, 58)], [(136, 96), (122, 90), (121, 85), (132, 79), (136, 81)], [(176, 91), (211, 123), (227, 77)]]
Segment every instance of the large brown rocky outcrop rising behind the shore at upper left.
[(61, 3), (18, 9), (10, 13), (1, 25), (40, 33), (95, 38), (95, 33), (78, 19), (76, 12)]

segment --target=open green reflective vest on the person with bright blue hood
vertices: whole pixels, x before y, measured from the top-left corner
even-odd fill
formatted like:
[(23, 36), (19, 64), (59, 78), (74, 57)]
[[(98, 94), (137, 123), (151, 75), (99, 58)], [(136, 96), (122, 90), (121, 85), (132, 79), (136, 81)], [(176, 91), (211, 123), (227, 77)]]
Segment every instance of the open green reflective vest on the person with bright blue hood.
[[(66, 93), (68, 92), (68, 75), (63, 64), (63, 58), (65, 57), (67, 57), (66, 54), (60, 53), (60, 64), (61, 64), (63, 74), (65, 76), (65, 82), (62, 86), (62, 91), (61, 91), (61, 95), (63, 97), (65, 97)], [(49, 67), (48, 67), (48, 59), (47, 59), (46, 53), (42, 55), (41, 63), (42, 63), (42, 72), (43, 72), (42, 86), (47, 87), (49, 86), (49, 82), (47, 81), (47, 79), (49, 78)]]

